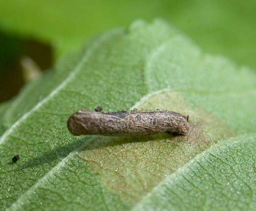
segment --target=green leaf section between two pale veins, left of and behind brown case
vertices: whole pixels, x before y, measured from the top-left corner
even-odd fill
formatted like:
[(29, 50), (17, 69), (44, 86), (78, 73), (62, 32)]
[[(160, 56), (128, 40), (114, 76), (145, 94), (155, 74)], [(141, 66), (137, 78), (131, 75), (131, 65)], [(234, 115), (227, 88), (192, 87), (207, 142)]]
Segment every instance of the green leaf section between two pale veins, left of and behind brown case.
[[(174, 33), (172, 29), (163, 26), (156, 24), (159, 33), (164, 32), (162, 38), (144, 23), (130, 27), (127, 36), (123, 29), (117, 29), (98, 37), (89, 49), (82, 52), (71, 74), (3, 134), (3, 207), (14, 202), (89, 138), (74, 138), (69, 134), (66, 121), (72, 112), (83, 107), (93, 108), (98, 104), (105, 109), (129, 108), (146, 92), (141, 70), (147, 52)], [(148, 41), (144, 36), (148, 37)], [(150, 40), (154, 42), (150, 43)], [(110, 81), (116, 82), (116, 85), (110, 85)], [(21, 159), (17, 165), (10, 164), (14, 154), (20, 154)], [(19, 178), (15, 176), (16, 171), (22, 172)]]

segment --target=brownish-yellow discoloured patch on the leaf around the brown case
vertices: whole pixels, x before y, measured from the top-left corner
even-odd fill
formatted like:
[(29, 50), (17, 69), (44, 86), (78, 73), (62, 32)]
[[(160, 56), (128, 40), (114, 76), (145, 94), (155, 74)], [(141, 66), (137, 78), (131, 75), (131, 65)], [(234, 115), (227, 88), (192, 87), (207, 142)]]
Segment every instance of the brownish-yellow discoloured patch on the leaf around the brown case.
[[(180, 94), (156, 92), (140, 102), (137, 108), (167, 109), (189, 115), (187, 135), (161, 133), (135, 137), (99, 136), (80, 151), (80, 158), (89, 164), (90, 170), (100, 176), (106, 188), (119, 194), (124, 201), (136, 203), (166, 176), (220, 140), (219, 136), (212, 136), (213, 132), (209, 133), (210, 129), (217, 131), (217, 124), (213, 124), (213, 128), (205, 126), (217, 118), (210, 117), (207, 112), (198, 115), (185, 107), (184, 100), (177, 96)], [(223, 125), (218, 126), (221, 129), (217, 133), (229, 131)], [(231, 134), (228, 132), (225, 136)]]

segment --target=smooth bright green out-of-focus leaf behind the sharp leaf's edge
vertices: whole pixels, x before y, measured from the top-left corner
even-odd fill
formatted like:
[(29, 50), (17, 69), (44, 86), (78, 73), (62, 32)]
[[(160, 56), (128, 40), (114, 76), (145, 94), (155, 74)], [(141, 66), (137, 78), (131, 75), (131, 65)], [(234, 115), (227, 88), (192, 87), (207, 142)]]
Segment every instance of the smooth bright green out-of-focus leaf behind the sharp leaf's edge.
[(1, 1), (0, 27), (47, 41), (56, 54), (78, 48), (106, 29), (129, 26), (135, 19), (165, 18), (206, 52), (224, 54), (256, 67), (256, 2), (217, 1)]

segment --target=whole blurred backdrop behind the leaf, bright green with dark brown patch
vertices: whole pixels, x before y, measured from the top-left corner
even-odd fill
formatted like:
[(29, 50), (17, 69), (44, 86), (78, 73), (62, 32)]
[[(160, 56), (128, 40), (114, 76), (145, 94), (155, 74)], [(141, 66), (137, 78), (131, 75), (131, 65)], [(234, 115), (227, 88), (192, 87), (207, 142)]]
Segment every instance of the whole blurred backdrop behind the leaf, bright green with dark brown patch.
[(0, 1), (0, 102), (24, 84), (20, 59), (40, 69), (80, 48), (89, 37), (136, 19), (163, 18), (204, 52), (256, 67), (256, 1)]

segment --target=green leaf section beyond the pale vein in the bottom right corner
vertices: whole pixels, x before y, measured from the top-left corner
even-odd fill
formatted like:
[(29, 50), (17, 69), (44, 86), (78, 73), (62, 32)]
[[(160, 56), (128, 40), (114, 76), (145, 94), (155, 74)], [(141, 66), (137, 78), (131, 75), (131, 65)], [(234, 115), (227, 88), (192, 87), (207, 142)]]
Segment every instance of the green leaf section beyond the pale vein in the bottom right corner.
[(254, 210), (255, 141), (254, 134), (211, 147), (168, 176), (134, 210)]

